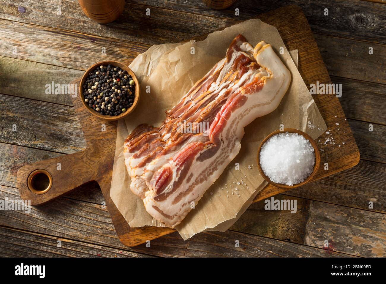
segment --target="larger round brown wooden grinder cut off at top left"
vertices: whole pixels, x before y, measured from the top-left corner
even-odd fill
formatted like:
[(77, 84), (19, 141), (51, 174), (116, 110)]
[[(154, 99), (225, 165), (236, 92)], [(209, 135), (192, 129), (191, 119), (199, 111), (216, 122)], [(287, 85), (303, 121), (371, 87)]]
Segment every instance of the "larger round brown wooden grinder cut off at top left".
[(125, 8), (125, 0), (78, 0), (83, 12), (91, 20), (107, 24), (118, 19)]

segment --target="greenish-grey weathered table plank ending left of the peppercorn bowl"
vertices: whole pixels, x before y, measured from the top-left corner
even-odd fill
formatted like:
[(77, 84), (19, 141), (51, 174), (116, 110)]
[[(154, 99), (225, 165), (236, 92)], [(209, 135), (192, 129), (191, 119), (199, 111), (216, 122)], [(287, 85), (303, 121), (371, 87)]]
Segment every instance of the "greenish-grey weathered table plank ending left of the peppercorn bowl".
[(69, 94), (46, 94), (46, 84), (68, 84), (83, 72), (0, 56), (0, 92), (6, 95), (73, 105)]

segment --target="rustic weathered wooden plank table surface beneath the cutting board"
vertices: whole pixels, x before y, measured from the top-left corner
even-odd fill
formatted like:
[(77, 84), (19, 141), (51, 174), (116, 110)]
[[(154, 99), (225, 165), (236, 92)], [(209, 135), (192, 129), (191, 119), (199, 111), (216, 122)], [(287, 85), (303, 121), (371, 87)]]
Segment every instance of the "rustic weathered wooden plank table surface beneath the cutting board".
[(150, 247), (122, 245), (98, 185), (83, 186), (30, 213), (0, 210), (0, 256), (385, 257), (382, 0), (238, 0), (225, 10), (200, 0), (127, 0), (124, 14), (107, 25), (88, 19), (76, 0), (0, 0), (0, 201), (20, 198), (22, 165), (85, 148), (71, 99), (46, 94), (47, 83), (69, 83), (97, 61), (133, 60), (152, 44), (184, 41), (288, 4), (303, 9), (333, 83), (342, 83), (359, 165), (275, 196), (296, 199), (295, 214), (266, 211), (261, 201), (224, 233), (187, 241), (173, 233)]

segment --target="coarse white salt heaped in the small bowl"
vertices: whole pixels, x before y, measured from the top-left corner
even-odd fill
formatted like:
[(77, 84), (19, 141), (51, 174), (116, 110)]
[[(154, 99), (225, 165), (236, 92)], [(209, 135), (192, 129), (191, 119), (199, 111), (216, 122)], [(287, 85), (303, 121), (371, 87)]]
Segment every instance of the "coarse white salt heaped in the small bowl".
[(315, 150), (310, 141), (298, 133), (279, 133), (261, 147), (259, 160), (270, 180), (292, 186), (312, 173)]

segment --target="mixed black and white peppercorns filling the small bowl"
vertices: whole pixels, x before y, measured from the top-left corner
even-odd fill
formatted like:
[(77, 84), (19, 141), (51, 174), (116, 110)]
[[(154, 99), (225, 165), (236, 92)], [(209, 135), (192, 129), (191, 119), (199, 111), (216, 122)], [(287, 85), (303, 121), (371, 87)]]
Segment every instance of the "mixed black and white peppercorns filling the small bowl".
[(134, 103), (135, 82), (118, 66), (99, 66), (83, 84), (83, 97), (91, 109), (109, 116), (126, 112)]

